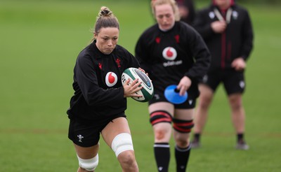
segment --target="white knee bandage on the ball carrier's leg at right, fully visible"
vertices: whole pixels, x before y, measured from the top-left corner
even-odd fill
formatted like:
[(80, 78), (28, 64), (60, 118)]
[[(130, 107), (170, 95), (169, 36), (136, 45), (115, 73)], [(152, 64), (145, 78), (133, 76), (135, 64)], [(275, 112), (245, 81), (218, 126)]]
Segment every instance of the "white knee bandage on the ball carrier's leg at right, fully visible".
[(133, 150), (131, 135), (128, 133), (118, 134), (113, 139), (111, 148), (115, 152), (116, 157), (125, 150)]

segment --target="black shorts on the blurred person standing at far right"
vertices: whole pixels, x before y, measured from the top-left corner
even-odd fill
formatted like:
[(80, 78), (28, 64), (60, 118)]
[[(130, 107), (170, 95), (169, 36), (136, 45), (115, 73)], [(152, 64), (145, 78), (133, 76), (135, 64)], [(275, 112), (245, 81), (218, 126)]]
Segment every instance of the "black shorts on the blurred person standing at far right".
[(244, 72), (234, 69), (210, 71), (204, 76), (202, 83), (208, 85), (216, 91), (220, 83), (223, 83), (228, 95), (234, 93), (243, 93), (245, 89)]

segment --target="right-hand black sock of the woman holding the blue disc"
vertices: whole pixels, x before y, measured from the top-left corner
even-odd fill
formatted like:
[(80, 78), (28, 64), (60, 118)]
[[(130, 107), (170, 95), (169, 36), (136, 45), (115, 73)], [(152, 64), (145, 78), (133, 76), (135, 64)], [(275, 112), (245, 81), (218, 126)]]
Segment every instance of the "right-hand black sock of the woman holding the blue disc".
[(176, 155), (176, 171), (185, 172), (186, 168), (188, 167), (190, 145), (188, 145), (188, 148), (178, 148), (178, 146), (176, 145), (175, 155)]

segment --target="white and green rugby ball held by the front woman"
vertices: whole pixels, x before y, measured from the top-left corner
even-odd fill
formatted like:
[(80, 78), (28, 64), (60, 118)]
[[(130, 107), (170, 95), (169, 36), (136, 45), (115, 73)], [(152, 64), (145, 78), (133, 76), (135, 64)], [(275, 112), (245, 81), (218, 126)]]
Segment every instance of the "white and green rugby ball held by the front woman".
[(126, 83), (126, 80), (130, 79), (130, 83), (133, 83), (133, 80), (138, 79), (141, 82), (143, 88), (136, 92), (136, 94), (142, 95), (142, 97), (132, 97), (136, 101), (146, 102), (152, 99), (154, 94), (153, 85), (150, 78), (140, 69), (128, 68), (122, 73), (122, 85)]

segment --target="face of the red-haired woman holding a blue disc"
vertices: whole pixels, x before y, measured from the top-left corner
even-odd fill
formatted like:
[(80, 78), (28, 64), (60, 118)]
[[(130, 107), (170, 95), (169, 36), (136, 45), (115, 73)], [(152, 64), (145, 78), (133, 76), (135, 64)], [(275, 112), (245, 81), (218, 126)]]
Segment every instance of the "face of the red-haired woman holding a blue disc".
[(155, 18), (159, 28), (163, 31), (167, 31), (174, 27), (175, 14), (170, 4), (155, 6)]

